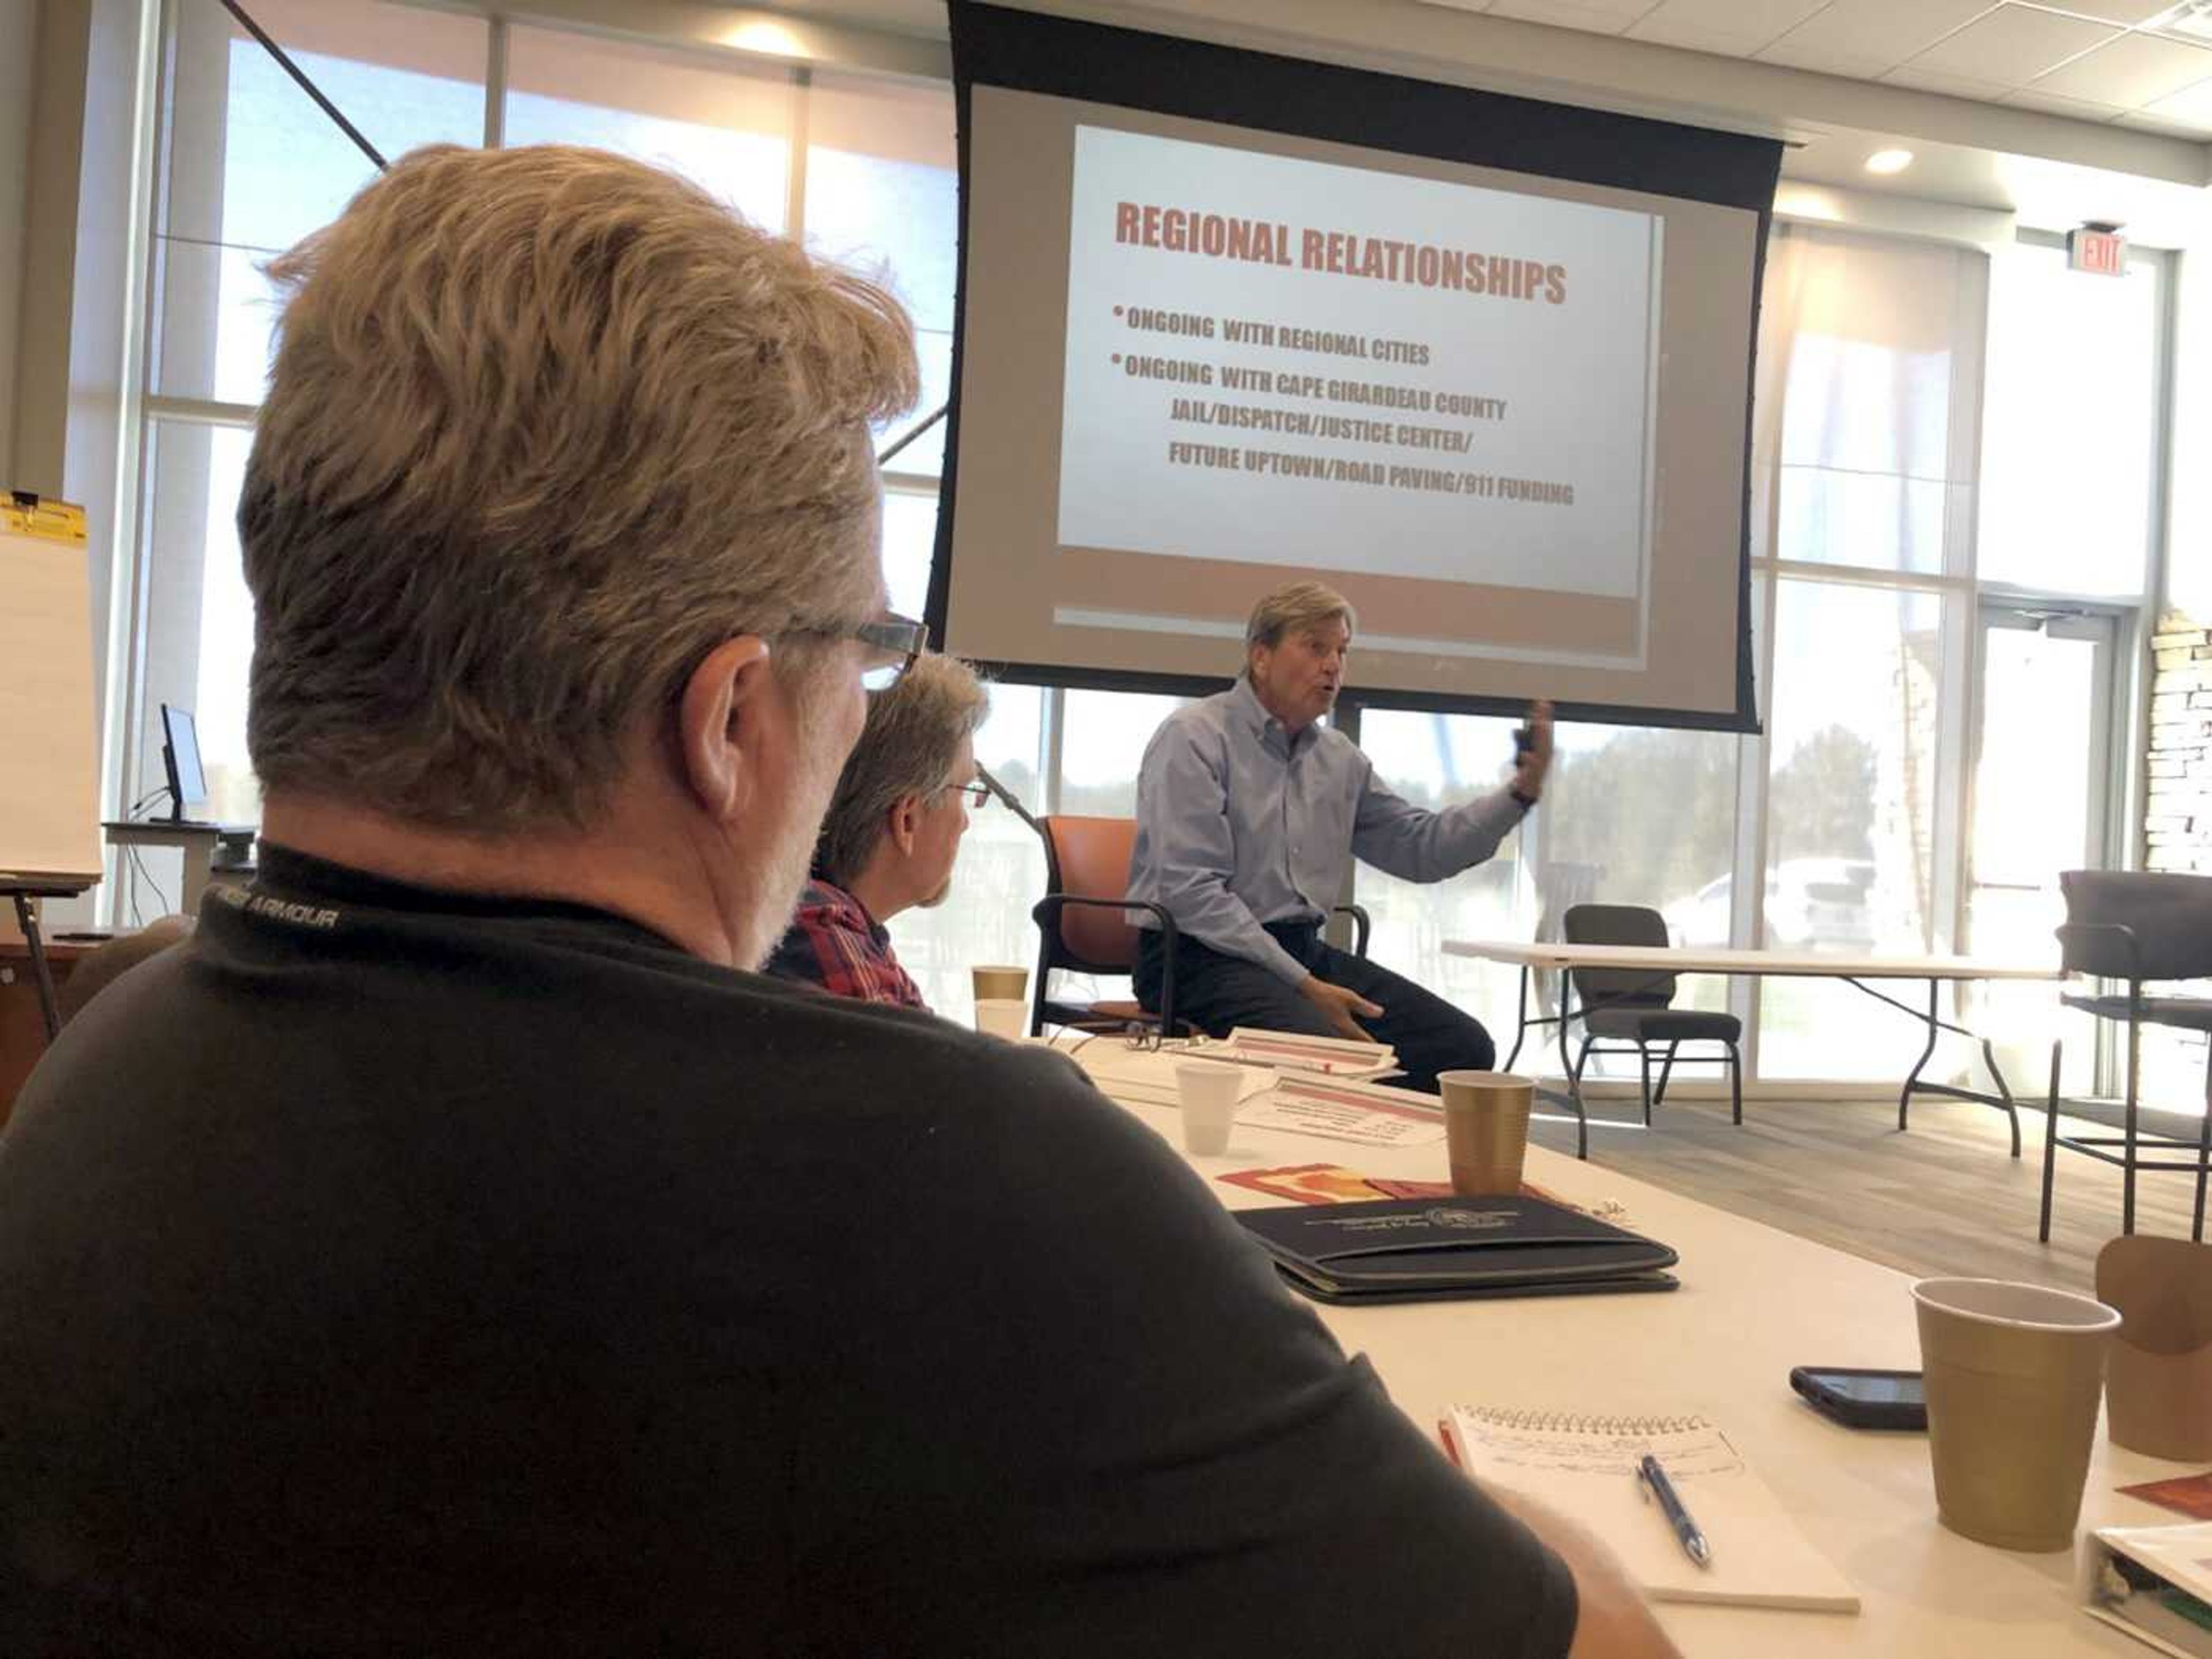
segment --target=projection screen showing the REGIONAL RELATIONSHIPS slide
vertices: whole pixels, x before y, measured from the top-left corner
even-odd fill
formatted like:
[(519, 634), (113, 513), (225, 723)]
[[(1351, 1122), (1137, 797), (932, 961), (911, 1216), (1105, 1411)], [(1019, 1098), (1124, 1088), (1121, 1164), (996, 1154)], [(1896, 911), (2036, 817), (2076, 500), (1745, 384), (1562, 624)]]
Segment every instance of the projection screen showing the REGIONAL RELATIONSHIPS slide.
[(953, 53), (947, 650), (1197, 690), (1316, 577), (1365, 701), (1752, 728), (1778, 144), (995, 7)]

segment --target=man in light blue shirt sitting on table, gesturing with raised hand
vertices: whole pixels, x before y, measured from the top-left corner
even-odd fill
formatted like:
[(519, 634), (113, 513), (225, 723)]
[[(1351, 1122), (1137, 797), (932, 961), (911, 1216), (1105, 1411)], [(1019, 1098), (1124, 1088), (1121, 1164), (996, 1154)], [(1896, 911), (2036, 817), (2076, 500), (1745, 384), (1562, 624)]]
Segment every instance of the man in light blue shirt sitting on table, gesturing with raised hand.
[[(1371, 1037), (1398, 1051), (1407, 1088), (1489, 1071), (1482, 1022), (1378, 962), (1321, 936), (1352, 860), (1402, 880), (1444, 880), (1480, 865), (1544, 794), (1551, 706), (1537, 703), (1513, 781), (1444, 812), (1391, 794), (1343, 732), (1336, 708), (1352, 657), (1352, 602), (1292, 582), (1252, 606), (1245, 666), (1230, 690), (1170, 714), (1137, 772), (1130, 898), (1175, 918), (1175, 1013), (1228, 1035), (1237, 1026)], [(1170, 947), (1150, 916), (1137, 998), (1157, 1011)]]

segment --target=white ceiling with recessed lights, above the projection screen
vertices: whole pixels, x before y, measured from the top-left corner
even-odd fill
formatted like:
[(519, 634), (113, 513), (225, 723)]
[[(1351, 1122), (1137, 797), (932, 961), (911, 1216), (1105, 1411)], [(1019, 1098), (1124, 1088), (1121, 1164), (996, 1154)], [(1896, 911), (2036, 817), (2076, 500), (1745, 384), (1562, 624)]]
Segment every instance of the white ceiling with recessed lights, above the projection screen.
[[(507, 0), (617, 33), (947, 73), (945, 0), (772, 2), (779, 11), (745, 0)], [(1787, 181), (1896, 197), (1907, 210), (2008, 212), (2042, 230), (2112, 221), (2150, 248), (2212, 246), (2212, 44), (2150, 27), (2168, 18), (2152, 0), (2066, 0), (2066, 9), (2028, 0), (1000, 2), (1783, 137)], [(2212, 0), (2192, 4), (2212, 11)], [(805, 40), (790, 49), (748, 40), (779, 20), (799, 22)], [(814, 40), (816, 24), (849, 29), (852, 40)], [(878, 44), (863, 51), (860, 40), (902, 42), (918, 60), (885, 62)], [(1882, 148), (1916, 159), (1876, 177), (1865, 161)]]

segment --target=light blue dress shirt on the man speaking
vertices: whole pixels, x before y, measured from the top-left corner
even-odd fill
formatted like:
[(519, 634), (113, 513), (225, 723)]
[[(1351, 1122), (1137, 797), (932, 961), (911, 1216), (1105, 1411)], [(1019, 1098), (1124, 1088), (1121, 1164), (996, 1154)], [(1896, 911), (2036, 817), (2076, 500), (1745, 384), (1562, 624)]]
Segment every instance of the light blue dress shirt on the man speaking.
[[(1458, 876), (1498, 852), (1524, 812), (1506, 790), (1444, 812), (1416, 807), (1376, 781), (1349, 737), (1327, 726), (1292, 737), (1239, 677), (1152, 732), (1128, 896), (1296, 984), (1305, 964), (1263, 922), (1327, 920), (1354, 858), (1405, 880)], [(1152, 927), (1150, 916), (1133, 920)]]

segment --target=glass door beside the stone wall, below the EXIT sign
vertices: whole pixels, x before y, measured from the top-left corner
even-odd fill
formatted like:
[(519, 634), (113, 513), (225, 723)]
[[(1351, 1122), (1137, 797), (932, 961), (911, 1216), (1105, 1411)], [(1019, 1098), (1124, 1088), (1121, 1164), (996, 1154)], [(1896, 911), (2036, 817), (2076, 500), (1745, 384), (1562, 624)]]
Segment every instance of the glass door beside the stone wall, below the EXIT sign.
[[(2062, 869), (2106, 865), (2115, 799), (2119, 617), (2079, 606), (1982, 604), (1980, 726), (1966, 863), (1966, 949), (1993, 962), (2055, 962)], [(2068, 1093), (2097, 1079), (2097, 1033), (2044, 984), (1978, 987), (1975, 1024), (2015, 1093), (2042, 1095), (2051, 1040)]]

